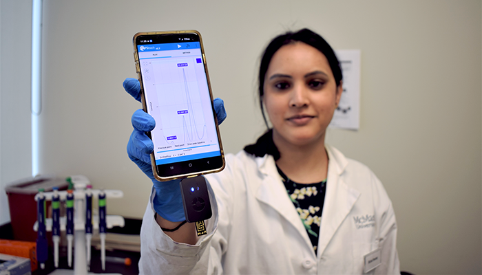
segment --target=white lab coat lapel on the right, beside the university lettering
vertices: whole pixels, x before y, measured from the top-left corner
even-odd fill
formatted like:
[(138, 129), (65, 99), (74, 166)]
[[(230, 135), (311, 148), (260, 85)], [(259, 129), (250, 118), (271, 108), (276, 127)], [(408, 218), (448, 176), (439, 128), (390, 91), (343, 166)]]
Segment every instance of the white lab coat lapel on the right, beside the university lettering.
[(342, 178), (342, 173), (344, 173), (348, 164), (344, 155), (335, 148), (328, 146), (326, 151), (330, 160), (328, 162), (322, 223), (319, 228), (318, 255), (323, 254), (360, 195), (358, 190), (348, 186)]

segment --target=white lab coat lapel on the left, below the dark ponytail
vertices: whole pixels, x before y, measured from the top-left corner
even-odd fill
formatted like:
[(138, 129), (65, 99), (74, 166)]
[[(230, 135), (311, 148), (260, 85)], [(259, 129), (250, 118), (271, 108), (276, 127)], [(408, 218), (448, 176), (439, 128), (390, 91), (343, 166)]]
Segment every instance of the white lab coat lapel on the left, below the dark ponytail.
[(304, 228), (299, 214), (296, 212), (293, 202), (289, 199), (286, 188), (277, 172), (275, 161), (271, 155), (258, 157), (258, 168), (263, 174), (263, 180), (258, 190), (255, 191), (256, 199), (266, 203), (279, 212), (284, 219), (289, 221), (302, 235), (305, 242), (311, 246), (306, 229)]

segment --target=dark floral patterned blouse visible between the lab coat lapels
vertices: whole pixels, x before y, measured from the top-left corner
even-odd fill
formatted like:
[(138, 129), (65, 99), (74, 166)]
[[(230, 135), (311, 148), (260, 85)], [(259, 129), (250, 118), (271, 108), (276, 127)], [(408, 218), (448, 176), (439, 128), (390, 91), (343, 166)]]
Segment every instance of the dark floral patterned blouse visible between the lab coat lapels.
[[(276, 166), (277, 167), (277, 166)], [(326, 179), (316, 184), (297, 184), (277, 167), (286, 192), (300, 214), (300, 219), (308, 232), (313, 250), (317, 254), (319, 225), (322, 220), (323, 203), (326, 193)]]

